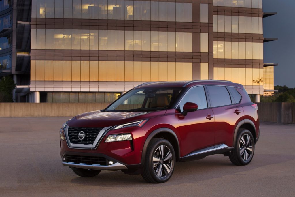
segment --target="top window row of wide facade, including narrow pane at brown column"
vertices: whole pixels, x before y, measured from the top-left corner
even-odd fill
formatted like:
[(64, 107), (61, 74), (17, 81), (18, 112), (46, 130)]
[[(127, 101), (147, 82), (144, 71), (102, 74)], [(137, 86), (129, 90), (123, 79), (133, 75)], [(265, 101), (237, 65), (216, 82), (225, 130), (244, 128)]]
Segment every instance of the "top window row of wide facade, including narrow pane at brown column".
[[(207, 9), (201, 9), (204, 12), (201, 16), (208, 18), (208, 5), (201, 6), (207, 6)], [(161, 1), (32, 0), (32, 18), (191, 22), (191, 9), (191, 3)]]

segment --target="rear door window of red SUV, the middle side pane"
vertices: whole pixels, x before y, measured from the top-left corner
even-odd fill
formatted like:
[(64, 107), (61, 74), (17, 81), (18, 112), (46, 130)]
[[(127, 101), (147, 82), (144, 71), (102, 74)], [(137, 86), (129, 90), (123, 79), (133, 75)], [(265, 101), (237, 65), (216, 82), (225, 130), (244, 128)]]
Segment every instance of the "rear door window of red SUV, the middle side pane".
[(225, 86), (207, 86), (211, 107), (231, 105), (230, 93)]

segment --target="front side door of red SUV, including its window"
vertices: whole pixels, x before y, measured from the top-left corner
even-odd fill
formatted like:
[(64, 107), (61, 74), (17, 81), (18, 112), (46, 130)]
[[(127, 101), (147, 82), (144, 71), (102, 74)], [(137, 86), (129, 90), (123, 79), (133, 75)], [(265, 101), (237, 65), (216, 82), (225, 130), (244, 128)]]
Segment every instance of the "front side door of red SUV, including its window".
[(179, 120), (182, 156), (214, 144), (214, 116), (212, 109), (208, 108), (204, 86), (192, 87), (184, 95), (179, 104), (181, 112), (186, 102), (196, 103), (199, 107), (194, 112), (188, 112), (186, 116), (176, 114)]

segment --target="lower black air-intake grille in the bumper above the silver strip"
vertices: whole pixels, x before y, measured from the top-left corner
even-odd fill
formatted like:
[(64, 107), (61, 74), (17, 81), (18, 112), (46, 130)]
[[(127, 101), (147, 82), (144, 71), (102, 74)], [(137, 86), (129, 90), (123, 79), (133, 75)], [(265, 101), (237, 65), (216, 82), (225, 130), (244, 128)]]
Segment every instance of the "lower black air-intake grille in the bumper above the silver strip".
[(65, 162), (72, 162), (75, 164), (87, 164), (87, 165), (106, 165), (106, 158), (104, 157), (93, 157), (93, 156), (78, 156), (78, 155), (65, 155)]

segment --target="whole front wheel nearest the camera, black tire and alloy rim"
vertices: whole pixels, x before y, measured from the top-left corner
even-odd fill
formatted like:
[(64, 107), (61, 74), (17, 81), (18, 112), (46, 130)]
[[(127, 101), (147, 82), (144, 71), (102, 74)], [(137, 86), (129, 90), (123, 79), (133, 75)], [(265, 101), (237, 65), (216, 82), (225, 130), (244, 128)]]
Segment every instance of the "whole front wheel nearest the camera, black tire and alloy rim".
[(149, 183), (165, 183), (173, 174), (175, 162), (175, 152), (170, 142), (154, 138), (145, 155), (142, 178)]

